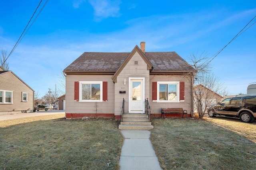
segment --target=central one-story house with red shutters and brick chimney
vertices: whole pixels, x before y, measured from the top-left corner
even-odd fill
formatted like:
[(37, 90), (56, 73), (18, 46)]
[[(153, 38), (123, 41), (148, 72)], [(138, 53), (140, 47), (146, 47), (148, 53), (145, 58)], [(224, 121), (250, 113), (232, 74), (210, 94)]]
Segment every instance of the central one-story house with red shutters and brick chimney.
[(148, 99), (152, 117), (160, 117), (161, 107), (182, 107), (191, 116), (194, 68), (175, 52), (140, 45), (130, 53), (86, 52), (65, 68), (66, 119), (121, 119), (123, 98), (125, 113), (144, 113)]

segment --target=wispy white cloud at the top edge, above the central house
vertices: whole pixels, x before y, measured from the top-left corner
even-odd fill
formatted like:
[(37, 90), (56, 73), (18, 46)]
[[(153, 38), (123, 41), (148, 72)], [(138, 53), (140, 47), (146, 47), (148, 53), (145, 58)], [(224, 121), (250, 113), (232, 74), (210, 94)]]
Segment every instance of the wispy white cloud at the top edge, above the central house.
[(101, 21), (108, 17), (118, 17), (120, 0), (89, 0), (89, 3), (94, 9), (94, 16), (96, 21)]

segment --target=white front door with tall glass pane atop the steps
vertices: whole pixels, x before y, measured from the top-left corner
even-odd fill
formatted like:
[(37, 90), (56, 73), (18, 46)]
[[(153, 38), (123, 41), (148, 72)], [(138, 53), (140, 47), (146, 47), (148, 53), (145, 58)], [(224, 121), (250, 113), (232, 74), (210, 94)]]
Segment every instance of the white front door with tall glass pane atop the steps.
[(129, 113), (145, 112), (145, 78), (129, 77)]

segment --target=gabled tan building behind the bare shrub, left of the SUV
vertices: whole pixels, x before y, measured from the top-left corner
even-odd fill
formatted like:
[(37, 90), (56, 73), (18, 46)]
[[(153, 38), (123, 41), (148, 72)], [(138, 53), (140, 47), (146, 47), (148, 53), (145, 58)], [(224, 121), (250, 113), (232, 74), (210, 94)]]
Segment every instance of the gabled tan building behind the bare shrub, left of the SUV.
[(194, 86), (194, 92), (194, 113), (198, 113), (198, 100), (201, 100), (202, 110), (204, 110), (206, 107), (209, 107), (212, 104), (217, 104), (224, 99), (221, 95), (203, 86), (202, 84)]

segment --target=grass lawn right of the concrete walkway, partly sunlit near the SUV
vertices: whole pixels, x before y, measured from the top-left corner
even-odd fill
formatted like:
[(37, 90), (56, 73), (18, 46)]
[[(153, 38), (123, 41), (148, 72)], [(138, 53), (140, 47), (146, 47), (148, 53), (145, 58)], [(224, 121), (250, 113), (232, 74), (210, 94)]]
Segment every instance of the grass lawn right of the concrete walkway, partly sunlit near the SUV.
[(256, 169), (256, 122), (224, 117), (153, 119), (150, 140), (161, 167), (170, 169)]

